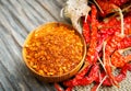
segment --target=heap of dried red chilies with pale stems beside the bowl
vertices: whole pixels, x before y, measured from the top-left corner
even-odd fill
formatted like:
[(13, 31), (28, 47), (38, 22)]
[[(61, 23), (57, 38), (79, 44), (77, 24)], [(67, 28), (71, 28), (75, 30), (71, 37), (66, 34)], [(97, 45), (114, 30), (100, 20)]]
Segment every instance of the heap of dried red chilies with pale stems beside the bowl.
[[(131, 71), (131, 54), (122, 54), (131, 50), (130, 4), (130, 0), (91, 1), (91, 12), (81, 18), (87, 44), (85, 61), (90, 65), (74, 78), (62, 82), (66, 91), (91, 83), (95, 83), (92, 91), (97, 91), (100, 86), (119, 87), (119, 82), (127, 78), (127, 71)], [(120, 72), (114, 75), (117, 69)], [(55, 87), (64, 91), (58, 83)]]

